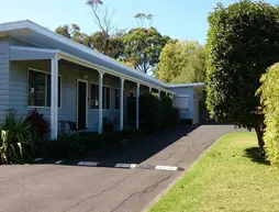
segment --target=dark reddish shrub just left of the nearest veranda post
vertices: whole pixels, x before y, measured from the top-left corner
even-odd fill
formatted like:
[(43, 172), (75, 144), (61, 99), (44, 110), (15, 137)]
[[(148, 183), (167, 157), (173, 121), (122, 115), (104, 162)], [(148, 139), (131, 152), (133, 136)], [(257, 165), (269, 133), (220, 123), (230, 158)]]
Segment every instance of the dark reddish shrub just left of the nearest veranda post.
[(49, 133), (49, 122), (44, 118), (44, 114), (38, 113), (37, 109), (29, 112), (25, 122), (30, 125), (35, 154), (37, 155), (42, 148), (42, 142), (46, 140)]

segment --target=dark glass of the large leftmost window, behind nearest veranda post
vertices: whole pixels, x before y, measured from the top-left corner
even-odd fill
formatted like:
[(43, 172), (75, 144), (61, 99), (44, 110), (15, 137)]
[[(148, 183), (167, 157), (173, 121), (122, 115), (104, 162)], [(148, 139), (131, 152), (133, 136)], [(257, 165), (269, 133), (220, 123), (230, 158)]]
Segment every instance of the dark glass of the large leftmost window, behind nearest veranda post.
[[(58, 107), (60, 108), (62, 79), (58, 76)], [(29, 107), (51, 107), (51, 74), (29, 69)]]

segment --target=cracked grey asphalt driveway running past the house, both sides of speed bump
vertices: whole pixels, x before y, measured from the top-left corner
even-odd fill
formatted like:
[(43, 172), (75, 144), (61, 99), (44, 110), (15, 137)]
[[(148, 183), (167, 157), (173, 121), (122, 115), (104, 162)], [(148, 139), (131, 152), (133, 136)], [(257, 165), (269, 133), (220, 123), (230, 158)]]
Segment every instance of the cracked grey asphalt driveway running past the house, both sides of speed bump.
[[(179, 127), (87, 160), (188, 169), (232, 125)], [(140, 212), (183, 172), (58, 165), (0, 167), (0, 212)]]

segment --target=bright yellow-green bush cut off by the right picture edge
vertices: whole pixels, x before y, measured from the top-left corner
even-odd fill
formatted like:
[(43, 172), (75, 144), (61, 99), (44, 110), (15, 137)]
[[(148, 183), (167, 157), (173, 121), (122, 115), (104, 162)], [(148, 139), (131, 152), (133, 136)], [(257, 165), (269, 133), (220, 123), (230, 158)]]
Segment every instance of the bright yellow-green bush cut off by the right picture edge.
[(270, 163), (279, 167), (279, 63), (271, 66), (260, 81), (260, 93), (265, 114), (265, 147)]

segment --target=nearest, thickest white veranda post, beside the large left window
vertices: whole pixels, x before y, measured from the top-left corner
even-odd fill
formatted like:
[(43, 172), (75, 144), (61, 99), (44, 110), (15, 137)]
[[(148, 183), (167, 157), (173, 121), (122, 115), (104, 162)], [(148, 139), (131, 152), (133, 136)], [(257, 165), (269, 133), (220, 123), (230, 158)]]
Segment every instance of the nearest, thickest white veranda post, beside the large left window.
[(58, 134), (58, 58), (52, 59), (52, 103), (51, 103), (51, 138), (56, 140)]

